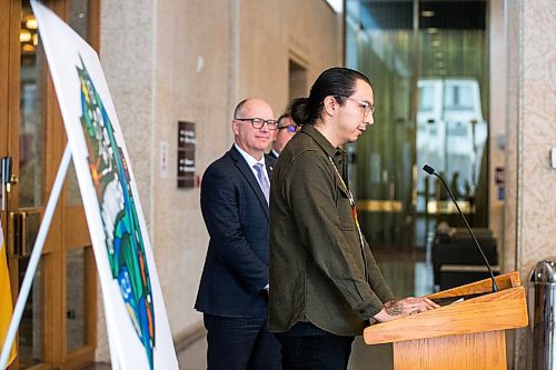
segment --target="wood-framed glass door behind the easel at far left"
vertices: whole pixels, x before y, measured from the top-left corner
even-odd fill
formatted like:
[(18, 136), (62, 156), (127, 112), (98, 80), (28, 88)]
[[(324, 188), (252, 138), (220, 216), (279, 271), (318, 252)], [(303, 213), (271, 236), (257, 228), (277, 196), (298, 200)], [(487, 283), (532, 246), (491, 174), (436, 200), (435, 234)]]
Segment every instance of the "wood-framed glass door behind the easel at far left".
[[(98, 42), (98, 1), (46, 4)], [(0, 157), (12, 163), (0, 212), (17, 299), (66, 146), (38, 24), (28, 0), (0, 0)], [(6, 21), (4, 21), (6, 20)], [(97, 20), (97, 22), (95, 21)], [(7, 77), (6, 79), (3, 77)], [(93, 360), (96, 271), (77, 180), (70, 171), (18, 331), (14, 369), (77, 369)]]

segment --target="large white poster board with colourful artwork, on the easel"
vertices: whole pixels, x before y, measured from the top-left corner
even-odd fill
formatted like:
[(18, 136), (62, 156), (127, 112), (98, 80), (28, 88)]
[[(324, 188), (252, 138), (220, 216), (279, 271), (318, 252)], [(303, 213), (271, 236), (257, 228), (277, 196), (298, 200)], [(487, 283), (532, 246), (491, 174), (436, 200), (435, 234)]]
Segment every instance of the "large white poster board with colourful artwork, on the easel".
[(97, 261), (112, 364), (178, 369), (139, 192), (97, 52), (31, 0)]

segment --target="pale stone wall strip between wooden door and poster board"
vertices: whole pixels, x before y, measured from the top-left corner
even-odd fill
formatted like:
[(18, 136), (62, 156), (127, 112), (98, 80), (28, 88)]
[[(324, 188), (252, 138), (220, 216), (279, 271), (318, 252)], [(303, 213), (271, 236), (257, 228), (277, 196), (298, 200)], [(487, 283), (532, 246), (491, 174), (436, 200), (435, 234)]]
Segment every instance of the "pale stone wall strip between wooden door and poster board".
[[(153, 198), (149, 191), (149, 179), (153, 166), (153, 2), (149, 0), (101, 1), (99, 50), (100, 62), (131, 159), (151, 243)], [(163, 288), (162, 291), (165, 292)], [(97, 296), (97, 359), (107, 361), (110, 354), (100, 288)]]

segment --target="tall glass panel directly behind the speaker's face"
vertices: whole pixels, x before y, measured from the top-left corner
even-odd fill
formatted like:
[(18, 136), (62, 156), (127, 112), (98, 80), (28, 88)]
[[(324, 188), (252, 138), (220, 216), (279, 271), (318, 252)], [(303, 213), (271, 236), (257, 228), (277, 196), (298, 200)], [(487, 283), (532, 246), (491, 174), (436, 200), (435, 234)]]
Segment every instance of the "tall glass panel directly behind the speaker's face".
[(375, 124), (348, 150), (361, 226), (374, 248), (413, 243), (416, 56), (410, 1), (356, 1), (346, 7), (346, 64), (366, 73)]

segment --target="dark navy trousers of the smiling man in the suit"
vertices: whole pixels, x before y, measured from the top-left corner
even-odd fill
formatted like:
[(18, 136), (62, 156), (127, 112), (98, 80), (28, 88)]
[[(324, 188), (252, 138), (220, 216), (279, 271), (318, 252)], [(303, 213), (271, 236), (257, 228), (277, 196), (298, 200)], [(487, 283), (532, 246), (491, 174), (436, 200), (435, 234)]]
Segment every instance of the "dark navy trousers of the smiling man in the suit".
[(280, 343), (267, 330), (266, 318), (203, 314), (209, 370), (278, 370)]

